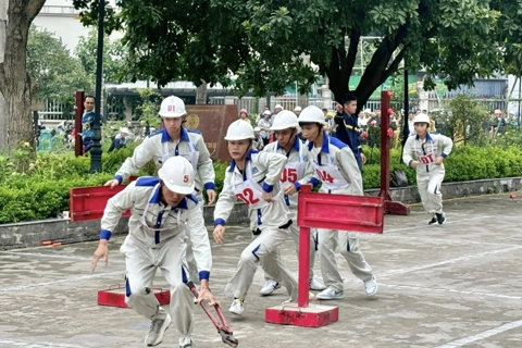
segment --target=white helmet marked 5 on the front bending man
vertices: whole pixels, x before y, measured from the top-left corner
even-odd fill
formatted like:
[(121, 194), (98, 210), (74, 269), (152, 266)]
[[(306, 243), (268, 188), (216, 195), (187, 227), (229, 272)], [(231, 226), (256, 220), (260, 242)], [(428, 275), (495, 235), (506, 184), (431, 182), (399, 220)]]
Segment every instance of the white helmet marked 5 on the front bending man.
[(194, 166), (184, 157), (175, 156), (167, 159), (158, 171), (158, 176), (173, 192), (181, 195), (194, 192)]

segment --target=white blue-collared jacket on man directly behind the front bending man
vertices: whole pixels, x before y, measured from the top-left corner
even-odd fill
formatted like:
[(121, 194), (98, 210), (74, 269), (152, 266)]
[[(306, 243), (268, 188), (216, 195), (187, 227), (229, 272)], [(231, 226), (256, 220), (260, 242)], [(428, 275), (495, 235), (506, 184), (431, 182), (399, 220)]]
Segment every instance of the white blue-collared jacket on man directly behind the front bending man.
[(137, 174), (151, 160), (154, 161), (158, 169), (161, 169), (163, 163), (173, 156), (183, 156), (192, 163), (196, 171), (196, 190), (215, 188), (214, 167), (203, 137), (198, 130), (185, 127), (182, 127), (182, 135), (177, 144), (171, 139), (166, 128), (149, 135), (144, 142), (136, 147), (133, 157), (125, 160), (114, 178), (122, 183), (132, 174)]

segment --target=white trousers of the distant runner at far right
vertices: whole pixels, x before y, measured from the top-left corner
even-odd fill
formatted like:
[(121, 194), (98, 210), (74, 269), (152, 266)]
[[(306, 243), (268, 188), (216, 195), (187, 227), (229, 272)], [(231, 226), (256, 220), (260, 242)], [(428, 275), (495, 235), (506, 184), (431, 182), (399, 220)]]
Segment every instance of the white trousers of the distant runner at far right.
[[(422, 165), (422, 164), (419, 164)], [(440, 185), (444, 181), (446, 170), (438, 169), (423, 175), (417, 175), (417, 187), (421, 196), (424, 210), (428, 213), (443, 212), (443, 194)]]

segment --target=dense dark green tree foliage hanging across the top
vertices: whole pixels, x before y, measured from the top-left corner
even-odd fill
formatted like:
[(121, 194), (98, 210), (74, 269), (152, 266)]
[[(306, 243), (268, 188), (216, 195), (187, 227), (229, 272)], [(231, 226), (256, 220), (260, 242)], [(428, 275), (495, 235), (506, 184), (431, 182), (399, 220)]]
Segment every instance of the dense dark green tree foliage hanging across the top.
[[(92, 0), (74, 0), (96, 14)], [(507, 4), (509, 2), (509, 4)], [(281, 94), (298, 82), (308, 90), (326, 75), (336, 100), (348, 91), (361, 37), (376, 36), (375, 51), (353, 90), (364, 104), (405, 60), (423, 69), (424, 87), (442, 76), (449, 88), (502, 71), (504, 44), (515, 47), (521, 1), (502, 0), (120, 0), (112, 28), (125, 28), (132, 76), (161, 84), (187, 78), (240, 91)], [(188, 10), (189, 9), (189, 10)], [(509, 15), (514, 27), (499, 18)], [(92, 21), (84, 17), (86, 21)], [(517, 48), (520, 54), (520, 49)], [(312, 64), (307, 64), (307, 58)]]

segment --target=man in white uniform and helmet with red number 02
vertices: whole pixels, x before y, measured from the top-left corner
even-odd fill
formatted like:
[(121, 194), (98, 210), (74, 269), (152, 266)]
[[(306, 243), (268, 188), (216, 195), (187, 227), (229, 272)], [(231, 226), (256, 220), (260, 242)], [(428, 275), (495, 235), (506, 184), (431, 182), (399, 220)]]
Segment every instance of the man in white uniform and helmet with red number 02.
[(286, 157), (251, 149), (252, 139), (253, 128), (248, 123), (238, 120), (228, 126), (225, 140), (233, 160), (214, 210), (213, 236), (217, 244), (224, 240), (225, 223), (237, 199), (248, 204), (250, 231), (254, 234), (225, 288), (225, 294), (234, 296), (229, 311), (236, 315), (243, 315), (245, 311), (244, 300), (258, 264), (286, 287), (290, 301), (297, 299), (297, 281), (275, 253), (286, 240), (286, 228), (291, 224), (285, 201), (282, 197), (272, 197), (272, 192), (279, 191)]

